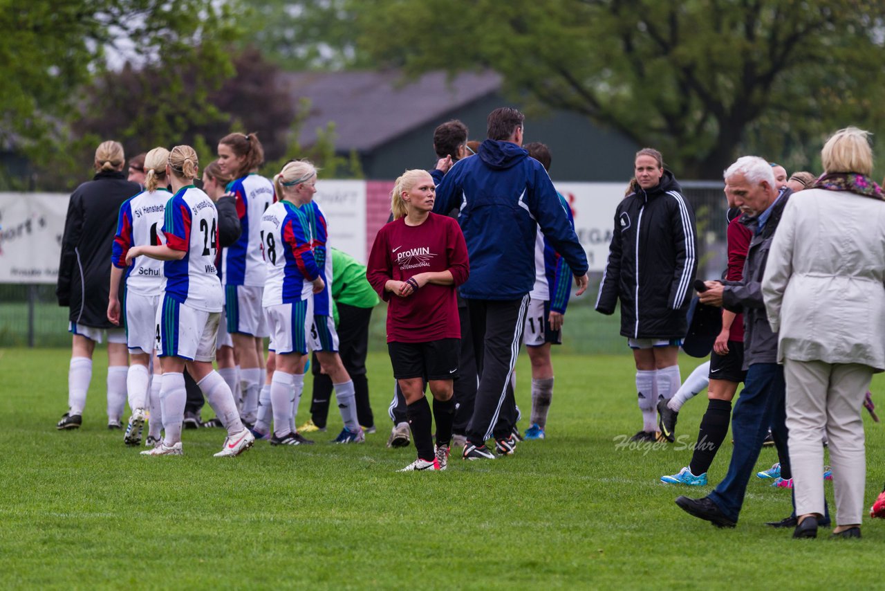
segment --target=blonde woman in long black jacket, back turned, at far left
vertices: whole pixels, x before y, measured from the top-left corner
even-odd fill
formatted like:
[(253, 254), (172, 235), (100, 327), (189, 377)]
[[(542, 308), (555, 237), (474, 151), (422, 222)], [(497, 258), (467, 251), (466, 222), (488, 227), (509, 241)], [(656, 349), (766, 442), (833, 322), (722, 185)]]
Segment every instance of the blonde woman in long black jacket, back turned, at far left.
[(58, 305), (70, 307), (68, 330), (73, 334), (68, 370), (68, 411), (58, 429), (77, 429), (82, 423), (86, 393), (92, 379), (96, 341), (108, 339), (108, 428), (121, 429), (126, 407), (128, 355), (126, 333), (107, 318), (111, 284), (111, 252), (119, 206), (141, 192), (123, 174), (123, 146), (104, 142), (96, 149), (96, 175), (81, 184), (68, 202), (61, 259), (58, 262)]

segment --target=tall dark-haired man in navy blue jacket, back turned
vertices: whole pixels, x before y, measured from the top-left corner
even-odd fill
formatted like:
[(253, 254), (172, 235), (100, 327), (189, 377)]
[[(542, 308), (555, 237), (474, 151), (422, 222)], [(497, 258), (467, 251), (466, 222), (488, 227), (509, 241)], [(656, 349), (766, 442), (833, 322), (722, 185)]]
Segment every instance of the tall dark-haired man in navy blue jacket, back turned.
[(587, 289), (587, 255), (547, 171), (521, 147), (524, 120), (509, 107), (489, 113), (488, 139), (477, 157), (458, 160), (436, 187), (434, 213), (458, 207), (470, 256), (470, 277), (459, 292), (470, 311), (480, 383), (467, 425), (466, 460), (494, 459), (485, 445), (492, 435), (499, 454), (516, 447), (506, 419), (515, 412), (502, 407), (515, 404), (510, 382), (535, 284), (538, 226), (572, 268), (576, 295)]

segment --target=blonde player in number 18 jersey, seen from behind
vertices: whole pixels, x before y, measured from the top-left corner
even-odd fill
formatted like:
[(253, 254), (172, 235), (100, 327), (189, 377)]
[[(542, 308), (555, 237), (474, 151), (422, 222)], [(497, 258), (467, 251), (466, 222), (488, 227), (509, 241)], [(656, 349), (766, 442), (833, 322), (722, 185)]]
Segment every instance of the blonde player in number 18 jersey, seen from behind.
[(293, 428), (301, 389), (296, 375), (304, 379), (304, 355), (313, 320), (313, 294), (325, 287), (311, 248), (311, 229), (304, 209), (296, 205), (298, 195), (310, 191), (305, 183), (316, 179), (316, 169), (307, 161), (286, 164), (273, 177), (281, 200), (267, 208), (261, 218), (261, 240), (265, 246), (267, 280), (263, 304), (267, 310), (276, 367), (270, 386), (273, 408), (272, 446), (296, 446), (307, 440)]

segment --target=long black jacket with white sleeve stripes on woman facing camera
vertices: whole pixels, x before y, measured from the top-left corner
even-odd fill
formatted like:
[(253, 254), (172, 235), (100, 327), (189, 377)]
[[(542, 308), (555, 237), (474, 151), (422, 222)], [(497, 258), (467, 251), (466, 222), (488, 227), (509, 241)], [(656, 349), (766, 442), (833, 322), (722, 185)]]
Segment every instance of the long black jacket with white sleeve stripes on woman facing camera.
[(625, 337), (682, 338), (696, 271), (695, 214), (665, 170), (618, 205), (596, 310), (613, 314), (620, 299)]

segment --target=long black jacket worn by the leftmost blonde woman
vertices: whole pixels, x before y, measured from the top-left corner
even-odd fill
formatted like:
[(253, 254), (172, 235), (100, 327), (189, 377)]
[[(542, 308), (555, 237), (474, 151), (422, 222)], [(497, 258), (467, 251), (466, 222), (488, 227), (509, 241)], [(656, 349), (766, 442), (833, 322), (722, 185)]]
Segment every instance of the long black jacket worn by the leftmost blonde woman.
[(111, 251), (119, 206), (139, 192), (121, 172), (104, 171), (73, 191), (58, 262), (58, 305), (70, 320), (95, 328), (117, 328), (107, 319)]

